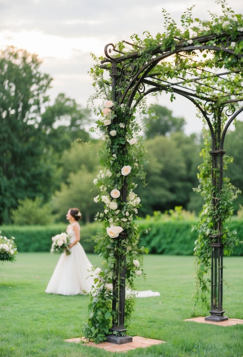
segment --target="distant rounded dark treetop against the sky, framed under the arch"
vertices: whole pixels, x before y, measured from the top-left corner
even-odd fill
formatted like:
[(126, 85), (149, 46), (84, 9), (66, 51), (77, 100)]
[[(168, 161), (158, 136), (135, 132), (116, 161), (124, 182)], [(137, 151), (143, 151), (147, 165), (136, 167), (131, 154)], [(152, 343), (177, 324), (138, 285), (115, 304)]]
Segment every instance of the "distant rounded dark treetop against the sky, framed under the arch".
[(183, 126), (186, 124), (185, 119), (172, 116), (172, 111), (160, 105), (150, 107), (151, 116), (145, 117), (145, 123), (148, 129), (145, 131), (145, 136), (152, 139), (156, 135), (169, 135), (176, 131), (183, 131)]

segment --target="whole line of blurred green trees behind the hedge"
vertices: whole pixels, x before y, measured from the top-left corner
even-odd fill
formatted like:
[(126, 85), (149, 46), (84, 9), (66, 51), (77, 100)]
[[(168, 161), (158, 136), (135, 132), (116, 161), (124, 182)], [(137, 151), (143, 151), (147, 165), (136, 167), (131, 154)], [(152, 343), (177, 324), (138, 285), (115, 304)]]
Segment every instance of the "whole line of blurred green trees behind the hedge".
[[(102, 143), (87, 131), (90, 110), (63, 93), (51, 104), (47, 90), (52, 78), (40, 71), (40, 64), (25, 50), (9, 47), (0, 53), (0, 224), (63, 221), (69, 207), (78, 207), (83, 220), (92, 221), (99, 211), (93, 180)], [(202, 135), (186, 135), (185, 120), (159, 105), (144, 121), (149, 124), (144, 132), (148, 185), (137, 182), (140, 215), (177, 205), (199, 212), (201, 197), (192, 188), (198, 185)], [(77, 138), (81, 141), (74, 143)], [(226, 175), (239, 188), (242, 142), (243, 123), (238, 121), (225, 149), (234, 157)], [(236, 211), (240, 204), (242, 196), (234, 203)]]

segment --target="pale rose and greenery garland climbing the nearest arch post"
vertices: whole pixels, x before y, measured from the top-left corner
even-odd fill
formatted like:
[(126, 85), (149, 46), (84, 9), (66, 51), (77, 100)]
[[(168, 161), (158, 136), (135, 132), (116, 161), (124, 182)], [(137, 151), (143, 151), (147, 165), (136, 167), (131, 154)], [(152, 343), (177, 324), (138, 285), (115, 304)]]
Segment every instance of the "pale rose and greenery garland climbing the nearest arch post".
[[(138, 124), (128, 125), (128, 116), (124, 107), (110, 100), (105, 100), (99, 108), (101, 117), (97, 120), (97, 130), (104, 140), (99, 152), (103, 165), (94, 185), (99, 195), (95, 202), (104, 203), (104, 212), (97, 212), (95, 220), (103, 220), (103, 230), (93, 237), (103, 257), (102, 268), (93, 271), (94, 286), (89, 304), (90, 316), (84, 328), (86, 338), (96, 342), (105, 340), (112, 318), (112, 278), (116, 256), (126, 255), (126, 311), (125, 324), (133, 311), (135, 290), (134, 278), (145, 273), (142, 269), (143, 253), (148, 249), (138, 247), (139, 227), (134, 219), (141, 206), (140, 198), (134, 192), (136, 188), (133, 177), (145, 180), (143, 164), (146, 151), (142, 145), (142, 137), (135, 134)], [(121, 190), (127, 188), (127, 199), (123, 201)], [(128, 237), (119, 240), (119, 234), (126, 232)], [(114, 333), (114, 332), (113, 332)]]

